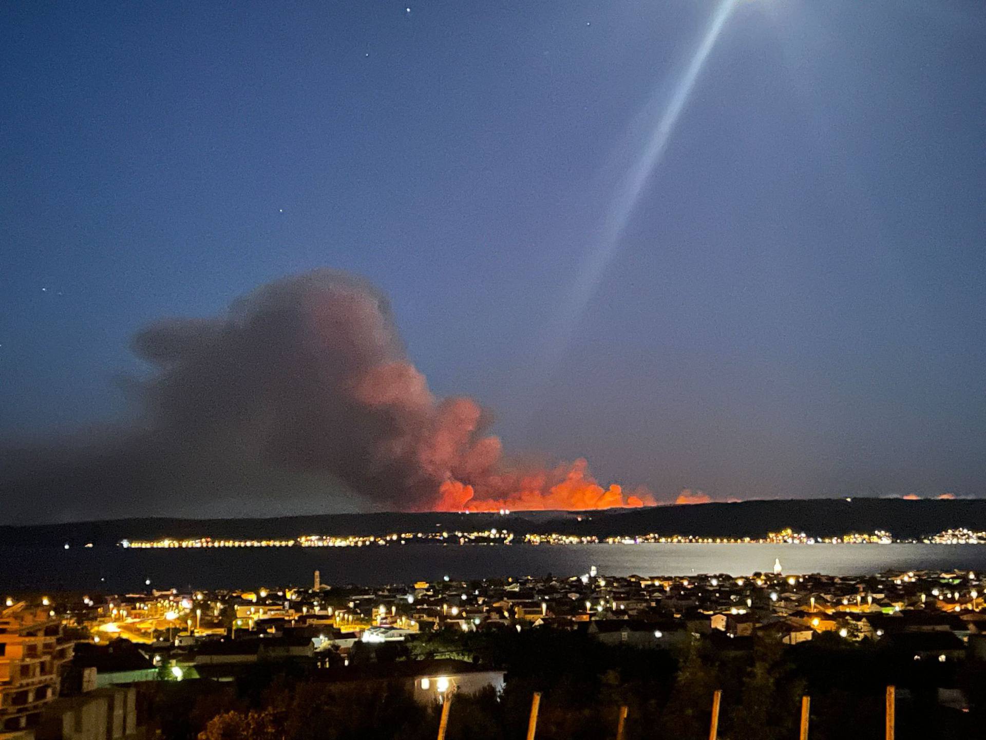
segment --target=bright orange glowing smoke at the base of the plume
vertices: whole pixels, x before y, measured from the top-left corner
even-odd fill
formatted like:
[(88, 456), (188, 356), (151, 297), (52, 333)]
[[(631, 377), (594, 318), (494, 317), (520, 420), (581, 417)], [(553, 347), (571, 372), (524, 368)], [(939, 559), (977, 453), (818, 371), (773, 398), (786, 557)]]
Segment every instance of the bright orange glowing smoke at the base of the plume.
[(624, 493), (615, 483), (603, 488), (589, 472), (585, 460), (553, 471), (505, 473), (491, 476), (477, 487), (455, 479), (439, 488), (437, 511), (534, 511), (563, 509), (584, 511), (615, 507), (653, 506), (654, 496), (643, 489)]

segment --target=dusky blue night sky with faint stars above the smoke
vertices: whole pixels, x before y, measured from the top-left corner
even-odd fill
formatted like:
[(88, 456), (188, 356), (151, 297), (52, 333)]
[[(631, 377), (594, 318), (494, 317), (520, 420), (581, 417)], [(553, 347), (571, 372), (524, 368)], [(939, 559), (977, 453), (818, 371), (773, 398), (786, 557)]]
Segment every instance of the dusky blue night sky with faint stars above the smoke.
[(138, 329), (327, 265), (509, 451), (983, 494), (981, 3), (739, 2), (575, 297), (720, 3), (407, 7), (4, 4), (0, 434), (123, 413)]

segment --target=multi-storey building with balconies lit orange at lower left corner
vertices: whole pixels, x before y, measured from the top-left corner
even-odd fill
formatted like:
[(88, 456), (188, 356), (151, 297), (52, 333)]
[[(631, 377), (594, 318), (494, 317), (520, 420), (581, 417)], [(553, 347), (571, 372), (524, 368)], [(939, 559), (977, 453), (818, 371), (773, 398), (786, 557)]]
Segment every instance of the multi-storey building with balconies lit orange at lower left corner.
[(58, 696), (62, 665), (72, 643), (46, 609), (23, 603), (0, 612), (0, 732), (33, 728), (41, 709)]

